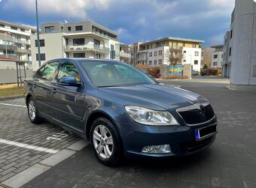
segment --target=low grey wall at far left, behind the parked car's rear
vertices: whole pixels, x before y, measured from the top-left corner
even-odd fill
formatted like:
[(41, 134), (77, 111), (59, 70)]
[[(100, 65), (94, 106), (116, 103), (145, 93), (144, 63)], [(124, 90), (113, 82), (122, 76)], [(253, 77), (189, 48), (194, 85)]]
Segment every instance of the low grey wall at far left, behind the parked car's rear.
[[(21, 70), (21, 75), (24, 76), (24, 70)], [(32, 76), (32, 70), (26, 69), (26, 78)], [(25, 78), (22, 78), (23, 80)], [(0, 70), (0, 84), (17, 83), (17, 70)]]

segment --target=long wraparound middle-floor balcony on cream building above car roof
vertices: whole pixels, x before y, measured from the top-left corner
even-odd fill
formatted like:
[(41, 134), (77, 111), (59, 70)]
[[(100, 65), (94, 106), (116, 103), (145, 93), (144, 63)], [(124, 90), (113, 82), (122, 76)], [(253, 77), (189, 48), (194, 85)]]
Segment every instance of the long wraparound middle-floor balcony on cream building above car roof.
[(87, 45), (81, 45), (81, 46), (65, 46), (64, 50), (66, 52), (97, 51), (97, 52), (109, 53), (110, 49), (107, 47), (99, 46), (99, 45), (87, 44)]

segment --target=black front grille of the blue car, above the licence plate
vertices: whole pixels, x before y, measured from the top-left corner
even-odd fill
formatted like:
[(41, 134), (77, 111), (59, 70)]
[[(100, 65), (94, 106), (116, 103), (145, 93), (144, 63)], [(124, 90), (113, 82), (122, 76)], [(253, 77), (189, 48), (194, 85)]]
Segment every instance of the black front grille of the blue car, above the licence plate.
[(201, 124), (209, 121), (215, 115), (211, 105), (204, 106), (203, 109), (190, 109), (178, 113), (187, 124)]

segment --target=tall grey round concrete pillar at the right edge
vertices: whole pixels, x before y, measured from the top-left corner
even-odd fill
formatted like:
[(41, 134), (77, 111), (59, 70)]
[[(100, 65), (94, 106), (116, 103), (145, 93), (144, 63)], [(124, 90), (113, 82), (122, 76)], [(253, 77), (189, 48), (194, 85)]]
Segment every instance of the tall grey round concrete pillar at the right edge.
[(253, 0), (236, 0), (233, 20), (230, 83), (256, 85), (256, 6)]

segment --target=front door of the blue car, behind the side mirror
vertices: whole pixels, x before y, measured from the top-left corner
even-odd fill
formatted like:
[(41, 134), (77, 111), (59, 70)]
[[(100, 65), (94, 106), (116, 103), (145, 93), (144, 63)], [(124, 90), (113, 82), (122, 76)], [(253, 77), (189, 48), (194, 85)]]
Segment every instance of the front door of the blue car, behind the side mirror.
[(63, 76), (74, 76), (77, 82), (82, 82), (81, 72), (74, 63), (62, 61), (59, 64), (52, 94), (56, 121), (82, 131), (84, 130), (82, 120), (84, 116), (85, 85), (81, 84), (80, 87), (61, 85), (59, 80)]

